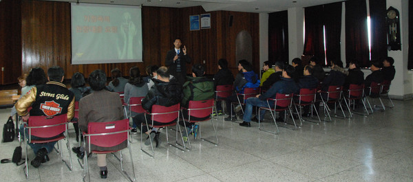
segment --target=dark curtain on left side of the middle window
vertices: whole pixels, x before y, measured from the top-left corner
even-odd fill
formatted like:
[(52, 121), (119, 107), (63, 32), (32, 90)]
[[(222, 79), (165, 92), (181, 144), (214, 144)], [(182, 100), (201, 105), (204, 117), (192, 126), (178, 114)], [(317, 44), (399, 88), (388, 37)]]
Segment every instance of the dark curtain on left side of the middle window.
[(324, 29), (323, 29), (323, 5), (304, 8), (304, 55), (314, 55), (319, 58), (320, 65), (324, 62)]

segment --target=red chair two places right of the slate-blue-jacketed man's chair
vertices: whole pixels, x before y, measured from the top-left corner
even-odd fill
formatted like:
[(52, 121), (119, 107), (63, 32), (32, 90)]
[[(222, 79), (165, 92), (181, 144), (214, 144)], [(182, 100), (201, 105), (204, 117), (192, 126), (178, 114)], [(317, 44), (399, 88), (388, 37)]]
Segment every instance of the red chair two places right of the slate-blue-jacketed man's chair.
[(335, 114), (336, 114), (336, 111), (337, 111), (337, 104), (339, 104), (340, 109), (341, 109), (341, 113), (343, 113), (343, 117), (346, 118), (346, 114), (344, 113), (343, 107), (340, 104), (342, 89), (343, 89), (343, 87), (341, 87), (341, 86), (331, 85), (331, 86), (328, 87), (328, 91), (321, 91), (320, 92), (321, 102), (323, 102), (323, 105), (324, 105), (324, 115), (326, 115), (326, 111), (327, 111), (328, 118), (330, 118), (330, 121), (332, 121), (331, 116), (330, 116), (331, 109), (328, 106), (328, 104), (334, 104), (334, 113)]

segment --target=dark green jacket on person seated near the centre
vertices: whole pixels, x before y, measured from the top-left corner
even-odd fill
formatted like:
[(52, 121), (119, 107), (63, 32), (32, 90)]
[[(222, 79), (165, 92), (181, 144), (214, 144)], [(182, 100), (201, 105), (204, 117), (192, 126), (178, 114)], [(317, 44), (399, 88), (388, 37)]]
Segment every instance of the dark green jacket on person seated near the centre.
[(184, 98), (181, 105), (187, 107), (189, 100), (209, 100), (213, 98), (213, 81), (205, 77), (187, 77), (184, 83)]

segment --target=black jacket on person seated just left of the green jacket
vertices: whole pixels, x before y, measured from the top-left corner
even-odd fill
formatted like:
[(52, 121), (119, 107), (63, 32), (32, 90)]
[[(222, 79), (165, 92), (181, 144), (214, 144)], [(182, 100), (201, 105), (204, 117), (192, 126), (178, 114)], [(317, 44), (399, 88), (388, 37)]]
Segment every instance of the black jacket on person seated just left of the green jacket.
[(153, 79), (155, 84), (149, 90), (148, 94), (142, 100), (142, 107), (151, 111), (152, 105), (173, 106), (182, 100), (182, 85), (172, 78), (169, 82)]

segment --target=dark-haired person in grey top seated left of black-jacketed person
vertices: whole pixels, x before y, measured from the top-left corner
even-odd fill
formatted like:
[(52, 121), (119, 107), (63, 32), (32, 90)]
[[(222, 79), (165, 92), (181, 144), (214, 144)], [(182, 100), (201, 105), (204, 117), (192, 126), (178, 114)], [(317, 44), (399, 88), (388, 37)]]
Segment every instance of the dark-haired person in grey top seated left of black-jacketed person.
[[(129, 69), (129, 81), (127, 82), (127, 84), (125, 85), (125, 91), (124, 91), (124, 95), (125, 98), (123, 98), (125, 100), (125, 102), (127, 104), (129, 104), (129, 98), (132, 97), (145, 97), (148, 94), (148, 84), (146, 82), (144, 82), (142, 80), (142, 78), (140, 77), (140, 71), (138, 67), (131, 67), (131, 69)], [(129, 107), (126, 107), (127, 109), (127, 114), (129, 115)], [(131, 117), (135, 117), (136, 114), (135, 112), (131, 113)], [(136, 133), (136, 125), (133, 124), (132, 125), (132, 133)]]

